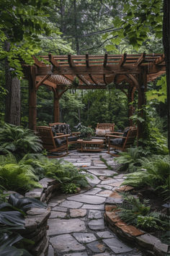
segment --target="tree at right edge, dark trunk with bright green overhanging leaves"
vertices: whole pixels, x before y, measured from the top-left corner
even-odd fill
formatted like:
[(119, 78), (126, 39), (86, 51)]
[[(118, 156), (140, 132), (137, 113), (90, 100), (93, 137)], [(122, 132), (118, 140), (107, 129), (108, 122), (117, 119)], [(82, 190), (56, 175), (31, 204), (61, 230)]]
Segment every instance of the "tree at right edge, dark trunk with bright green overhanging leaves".
[[(112, 35), (117, 35), (117, 45), (122, 38), (127, 38), (128, 42), (133, 45), (135, 49), (142, 46), (144, 40), (148, 38), (151, 33), (156, 38), (162, 38), (164, 44), (164, 53), (166, 56), (166, 88), (168, 101), (168, 145), (170, 150), (170, 67), (169, 67), (169, 20), (170, 20), (170, 1), (169, 0), (130, 0), (120, 1), (123, 5), (121, 15), (115, 17), (113, 23), (116, 30)], [(163, 18), (164, 17), (164, 18)], [(163, 33), (162, 33), (163, 32)], [(113, 42), (115, 43), (115, 42)], [(116, 46), (115, 46), (116, 47)], [(110, 50), (113, 46), (107, 46)]]

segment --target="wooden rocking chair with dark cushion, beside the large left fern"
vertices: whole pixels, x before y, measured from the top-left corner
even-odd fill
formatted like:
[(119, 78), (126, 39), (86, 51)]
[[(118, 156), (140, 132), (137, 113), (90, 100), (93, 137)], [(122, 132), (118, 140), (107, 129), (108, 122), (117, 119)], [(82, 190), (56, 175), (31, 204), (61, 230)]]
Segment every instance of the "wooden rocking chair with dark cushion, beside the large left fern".
[[(70, 135), (53, 134), (51, 127), (37, 127), (37, 135), (42, 140), (42, 145), (48, 151), (48, 158), (59, 158), (68, 155), (68, 137)], [(66, 153), (60, 154), (66, 151)], [(58, 153), (58, 154), (56, 154)]]

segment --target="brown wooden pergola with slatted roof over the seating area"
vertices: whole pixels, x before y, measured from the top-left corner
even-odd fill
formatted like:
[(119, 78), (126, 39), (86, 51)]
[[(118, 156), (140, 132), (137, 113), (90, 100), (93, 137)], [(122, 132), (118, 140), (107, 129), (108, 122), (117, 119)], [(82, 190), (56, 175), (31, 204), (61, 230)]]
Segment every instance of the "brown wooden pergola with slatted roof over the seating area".
[[(59, 121), (59, 100), (66, 90), (76, 88), (107, 89), (112, 83), (128, 97), (128, 103), (133, 101), (135, 90), (138, 90), (138, 108), (146, 103), (145, 92), (147, 83), (156, 80), (166, 73), (164, 54), (122, 54), (122, 55), (60, 55), (40, 56), (34, 66), (23, 65), (25, 79), (29, 80), (29, 127), (36, 129), (36, 98), (40, 85), (46, 85), (53, 90), (54, 121)], [(130, 106), (130, 105), (129, 105)], [(129, 116), (133, 114), (129, 107)], [(139, 113), (143, 116), (143, 111)], [(143, 124), (138, 124), (138, 137), (143, 135)]]

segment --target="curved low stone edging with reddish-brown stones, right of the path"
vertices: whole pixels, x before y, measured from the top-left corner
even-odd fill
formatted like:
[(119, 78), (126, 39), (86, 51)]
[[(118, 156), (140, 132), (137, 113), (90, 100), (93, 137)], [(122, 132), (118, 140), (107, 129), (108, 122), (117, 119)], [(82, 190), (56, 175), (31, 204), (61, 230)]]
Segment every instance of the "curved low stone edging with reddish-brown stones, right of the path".
[[(125, 186), (126, 187), (126, 186)], [(120, 189), (122, 190), (123, 187)], [(130, 189), (128, 189), (130, 190)], [(119, 191), (119, 189), (117, 189)], [(116, 204), (122, 202), (121, 196), (115, 191), (112, 192), (105, 202), (104, 219), (115, 234), (128, 242), (135, 242), (140, 247), (146, 249), (151, 255), (164, 256), (169, 254), (169, 245), (162, 243), (156, 236), (146, 233), (135, 226), (127, 225), (122, 221), (113, 209)]]

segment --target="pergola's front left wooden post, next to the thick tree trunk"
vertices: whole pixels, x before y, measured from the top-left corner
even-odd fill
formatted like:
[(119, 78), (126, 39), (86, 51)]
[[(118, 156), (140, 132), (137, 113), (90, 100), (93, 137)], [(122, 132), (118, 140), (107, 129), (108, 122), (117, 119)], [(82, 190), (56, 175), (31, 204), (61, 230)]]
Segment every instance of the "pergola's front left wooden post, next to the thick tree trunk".
[(36, 93), (36, 67), (29, 67), (29, 124), (30, 129), (36, 130), (37, 117), (37, 93)]

